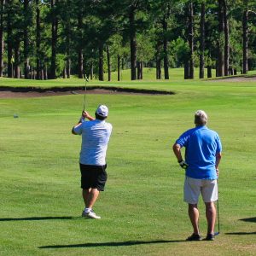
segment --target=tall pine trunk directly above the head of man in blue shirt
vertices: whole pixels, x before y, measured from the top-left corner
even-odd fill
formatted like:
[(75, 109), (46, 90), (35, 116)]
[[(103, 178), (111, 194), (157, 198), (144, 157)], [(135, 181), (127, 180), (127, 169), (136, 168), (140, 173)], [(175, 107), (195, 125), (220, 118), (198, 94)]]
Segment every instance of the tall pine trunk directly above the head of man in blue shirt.
[(200, 20), (200, 64), (199, 64), (199, 78), (204, 79), (205, 76), (205, 16), (206, 3), (201, 3), (201, 20)]

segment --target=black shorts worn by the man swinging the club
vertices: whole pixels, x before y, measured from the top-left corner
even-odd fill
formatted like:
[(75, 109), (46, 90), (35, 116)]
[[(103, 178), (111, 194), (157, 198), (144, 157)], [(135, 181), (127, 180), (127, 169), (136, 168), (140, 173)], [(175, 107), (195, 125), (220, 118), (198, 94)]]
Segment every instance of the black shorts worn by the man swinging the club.
[(105, 166), (89, 166), (80, 163), (81, 172), (81, 188), (82, 189), (98, 189), (104, 191), (107, 181), (107, 165)]

